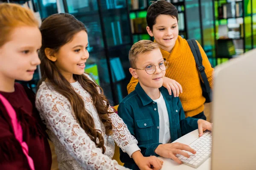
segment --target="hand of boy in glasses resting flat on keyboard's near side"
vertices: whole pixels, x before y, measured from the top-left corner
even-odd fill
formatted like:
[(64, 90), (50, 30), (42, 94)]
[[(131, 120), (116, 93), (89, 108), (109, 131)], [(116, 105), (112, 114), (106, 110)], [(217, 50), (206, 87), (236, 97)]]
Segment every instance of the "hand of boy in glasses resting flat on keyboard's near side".
[(196, 151), (193, 150), (191, 147), (189, 147), (186, 144), (182, 143), (169, 143), (169, 144), (160, 144), (158, 147), (155, 149), (155, 153), (157, 155), (160, 155), (165, 158), (170, 158), (176, 161), (179, 164), (182, 164), (182, 161), (180, 161), (177, 157), (176, 154), (183, 155), (187, 158), (189, 158), (189, 154), (186, 153), (185, 151), (188, 151), (195, 154)]

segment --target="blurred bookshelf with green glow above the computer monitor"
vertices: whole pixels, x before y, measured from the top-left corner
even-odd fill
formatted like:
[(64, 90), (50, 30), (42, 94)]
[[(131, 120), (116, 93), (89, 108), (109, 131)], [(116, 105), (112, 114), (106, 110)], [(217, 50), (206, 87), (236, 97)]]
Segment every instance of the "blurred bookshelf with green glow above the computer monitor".
[(221, 64), (256, 47), (254, 0), (214, 0), (216, 62)]

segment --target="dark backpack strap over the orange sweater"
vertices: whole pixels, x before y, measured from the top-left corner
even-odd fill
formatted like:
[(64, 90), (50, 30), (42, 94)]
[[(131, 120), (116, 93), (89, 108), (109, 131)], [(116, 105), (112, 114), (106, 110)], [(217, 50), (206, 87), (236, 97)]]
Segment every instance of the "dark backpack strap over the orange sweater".
[(195, 58), (195, 63), (198, 66), (198, 70), (199, 70), (199, 72), (201, 74), (201, 77), (203, 79), (204, 83), (202, 85), (204, 85), (207, 93), (210, 93), (211, 88), (210, 88), (207, 76), (205, 74), (205, 71), (204, 71), (205, 68), (204, 68), (204, 65), (202, 63), (203, 58), (201, 56), (201, 52), (199, 50), (198, 44), (195, 41), (195, 39), (187, 40), (187, 42), (189, 43), (190, 49), (191, 49), (191, 51), (193, 53), (193, 56)]

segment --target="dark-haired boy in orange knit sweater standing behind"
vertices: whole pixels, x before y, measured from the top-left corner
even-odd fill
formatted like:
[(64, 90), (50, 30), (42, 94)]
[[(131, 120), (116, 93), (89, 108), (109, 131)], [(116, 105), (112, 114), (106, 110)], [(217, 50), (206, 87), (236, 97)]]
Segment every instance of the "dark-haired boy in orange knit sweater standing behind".
[[(154, 37), (155, 42), (160, 46), (163, 58), (169, 62), (166, 77), (163, 79), (163, 86), (168, 89), (170, 95), (173, 92), (174, 96), (179, 96), (179, 91), (182, 93), (183, 88), (180, 101), (186, 117), (206, 120), (204, 115), (205, 98), (202, 95), (195, 59), (188, 42), (178, 35), (177, 9), (165, 0), (157, 0), (149, 6), (146, 19), (148, 34)], [(205, 73), (212, 88), (214, 69), (199, 43), (198, 46), (203, 58)], [(134, 91), (137, 83), (138, 79), (132, 77), (127, 86), (128, 93)]]

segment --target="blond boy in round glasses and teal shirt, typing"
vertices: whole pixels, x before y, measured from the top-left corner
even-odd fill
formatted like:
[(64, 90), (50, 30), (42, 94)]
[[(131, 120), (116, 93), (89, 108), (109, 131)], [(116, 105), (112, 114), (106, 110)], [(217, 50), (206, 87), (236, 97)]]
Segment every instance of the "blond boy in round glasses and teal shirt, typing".
[[(129, 51), (131, 75), (139, 80), (135, 90), (119, 104), (118, 114), (137, 139), (144, 156), (163, 156), (182, 163), (176, 154), (189, 157), (191, 147), (181, 143), (170, 143), (198, 128), (199, 136), (211, 130), (212, 124), (192, 117), (185, 118), (179, 97), (170, 96), (162, 87), (168, 62), (163, 59), (157, 43), (150, 40), (136, 42)], [(120, 150), (124, 166), (138, 170), (127, 153)]]

